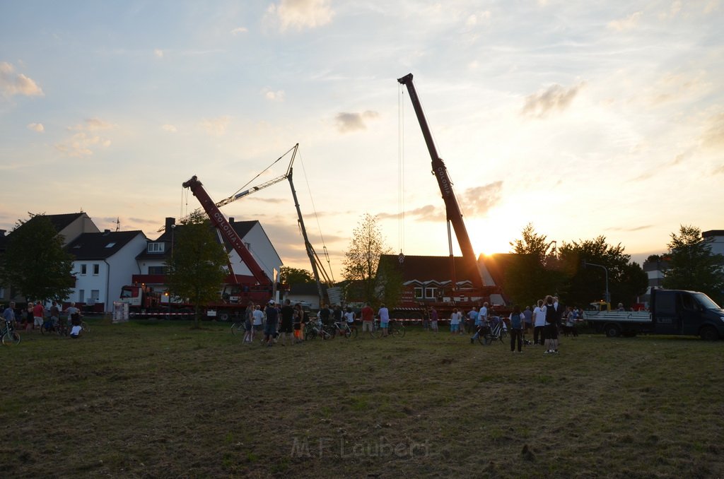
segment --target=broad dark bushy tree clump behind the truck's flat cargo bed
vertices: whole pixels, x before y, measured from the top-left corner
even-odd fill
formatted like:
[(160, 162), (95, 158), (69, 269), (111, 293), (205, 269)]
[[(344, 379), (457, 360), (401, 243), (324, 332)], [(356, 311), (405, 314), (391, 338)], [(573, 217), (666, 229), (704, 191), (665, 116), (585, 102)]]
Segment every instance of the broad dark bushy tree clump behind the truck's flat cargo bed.
[[(625, 248), (610, 245), (604, 236), (584, 241), (564, 242), (559, 249), (559, 260), (568, 278), (564, 302), (585, 306), (605, 298), (606, 275), (611, 302), (631, 306), (639, 294), (644, 294), (649, 279), (638, 263), (631, 263)], [(598, 266), (583, 267), (583, 261)]]

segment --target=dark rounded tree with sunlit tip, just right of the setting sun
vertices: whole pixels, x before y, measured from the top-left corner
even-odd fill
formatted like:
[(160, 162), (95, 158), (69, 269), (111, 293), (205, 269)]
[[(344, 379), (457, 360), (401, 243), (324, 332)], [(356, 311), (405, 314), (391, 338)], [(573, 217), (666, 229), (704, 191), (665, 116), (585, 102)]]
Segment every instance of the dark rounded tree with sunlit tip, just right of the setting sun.
[(559, 292), (563, 281), (552, 249), (554, 242), (536, 233), (531, 223), (523, 228), (521, 236), (510, 242), (515, 256), (505, 270), (503, 290), (515, 304), (534, 305), (546, 294)]

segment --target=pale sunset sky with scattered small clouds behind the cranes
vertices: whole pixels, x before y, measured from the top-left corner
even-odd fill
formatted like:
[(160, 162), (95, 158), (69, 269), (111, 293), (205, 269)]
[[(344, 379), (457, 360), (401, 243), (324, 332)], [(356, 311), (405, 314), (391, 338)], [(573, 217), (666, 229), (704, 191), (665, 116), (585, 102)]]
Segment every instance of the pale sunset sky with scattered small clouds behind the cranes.
[[(85, 211), (155, 239), (198, 207), (192, 175), (221, 200), (299, 143), (335, 279), (364, 213), (395, 253), (447, 255), (410, 72), (476, 253), (529, 222), (639, 262), (724, 229), (717, 0), (0, 0), (0, 229)], [(308, 268), (286, 182), (222, 211)]]

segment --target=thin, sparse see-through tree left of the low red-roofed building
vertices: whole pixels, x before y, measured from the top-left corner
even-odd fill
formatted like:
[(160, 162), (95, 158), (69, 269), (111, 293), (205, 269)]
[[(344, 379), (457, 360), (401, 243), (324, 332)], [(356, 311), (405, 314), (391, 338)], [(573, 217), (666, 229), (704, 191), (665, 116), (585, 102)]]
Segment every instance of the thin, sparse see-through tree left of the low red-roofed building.
[(392, 253), (384, 244), (384, 237), (376, 216), (365, 213), (352, 233), (350, 247), (345, 252), (342, 276), (360, 286), (360, 294), (370, 304), (375, 302), (375, 278), (380, 255)]

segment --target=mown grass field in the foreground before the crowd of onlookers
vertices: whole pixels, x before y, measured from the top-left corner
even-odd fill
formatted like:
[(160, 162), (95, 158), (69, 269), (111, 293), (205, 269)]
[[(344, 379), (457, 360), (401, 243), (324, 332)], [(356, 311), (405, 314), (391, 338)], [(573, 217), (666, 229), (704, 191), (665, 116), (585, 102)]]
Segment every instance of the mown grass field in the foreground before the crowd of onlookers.
[(466, 336), (266, 348), (89, 321), (0, 347), (3, 477), (724, 476), (724, 342)]

